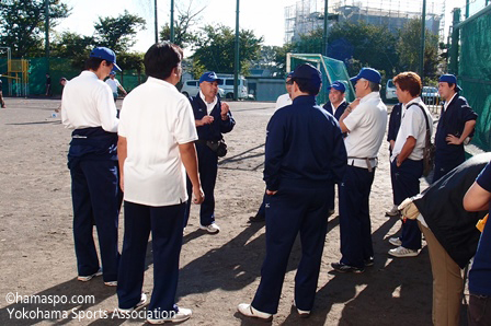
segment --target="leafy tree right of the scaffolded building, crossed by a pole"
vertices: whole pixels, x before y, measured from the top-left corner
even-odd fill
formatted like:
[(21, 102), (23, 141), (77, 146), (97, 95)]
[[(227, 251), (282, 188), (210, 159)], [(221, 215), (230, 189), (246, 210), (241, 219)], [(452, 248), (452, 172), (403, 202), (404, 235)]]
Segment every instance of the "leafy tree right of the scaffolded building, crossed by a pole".
[[(397, 51), (400, 57), (400, 70), (418, 71), (421, 50), (421, 20), (413, 19), (399, 31)], [(438, 56), (438, 36), (425, 31), (424, 42), (424, 77), (434, 78), (437, 66), (442, 61)]]

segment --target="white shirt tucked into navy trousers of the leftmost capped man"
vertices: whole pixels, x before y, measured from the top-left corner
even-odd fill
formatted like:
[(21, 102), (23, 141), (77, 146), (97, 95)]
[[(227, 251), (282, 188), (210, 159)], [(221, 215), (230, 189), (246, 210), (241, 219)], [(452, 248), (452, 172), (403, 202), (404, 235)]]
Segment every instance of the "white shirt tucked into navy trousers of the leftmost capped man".
[(64, 88), (61, 121), (69, 129), (102, 127), (117, 132), (119, 120), (110, 86), (91, 71), (82, 71)]

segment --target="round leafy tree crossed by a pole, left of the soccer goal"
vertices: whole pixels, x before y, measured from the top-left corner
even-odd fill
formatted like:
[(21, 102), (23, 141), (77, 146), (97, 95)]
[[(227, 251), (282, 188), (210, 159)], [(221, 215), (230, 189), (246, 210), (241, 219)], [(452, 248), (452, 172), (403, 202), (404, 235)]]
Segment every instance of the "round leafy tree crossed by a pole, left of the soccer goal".
[[(206, 25), (196, 39), (193, 65), (205, 67), (221, 73), (233, 73), (235, 38), (232, 28), (219, 25)], [(247, 74), (250, 61), (259, 56), (262, 37), (255, 37), (254, 32), (241, 30), (239, 33), (239, 71)]]

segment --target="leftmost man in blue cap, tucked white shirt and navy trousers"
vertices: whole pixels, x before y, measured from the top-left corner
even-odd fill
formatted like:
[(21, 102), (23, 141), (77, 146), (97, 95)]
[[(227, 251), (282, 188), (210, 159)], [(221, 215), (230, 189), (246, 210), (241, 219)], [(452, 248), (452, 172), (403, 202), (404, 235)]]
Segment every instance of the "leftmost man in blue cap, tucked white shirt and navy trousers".
[(101, 275), (93, 240), (98, 228), (103, 279), (115, 287), (119, 253), (117, 224), (122, 202), (117, 167), (116, 106), (104, 79), (119, 69), (115, 54), (96, 47), (85, 61), (85, 69), (65, 85), (61, 121), (75, 129), (68, 151), (73, 201), (73, 240), (78, 280), (89, 281)]

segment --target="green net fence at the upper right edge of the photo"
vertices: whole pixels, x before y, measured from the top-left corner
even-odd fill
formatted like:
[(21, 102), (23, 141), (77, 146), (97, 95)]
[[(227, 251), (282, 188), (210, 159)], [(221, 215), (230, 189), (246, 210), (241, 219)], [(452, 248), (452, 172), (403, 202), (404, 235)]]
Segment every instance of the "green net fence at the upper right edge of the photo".
[(479, 115), (472, 143), (491, 150), (491, 10), (460, 28), (458, 67), (461, 95)]

